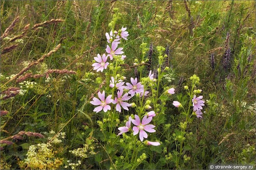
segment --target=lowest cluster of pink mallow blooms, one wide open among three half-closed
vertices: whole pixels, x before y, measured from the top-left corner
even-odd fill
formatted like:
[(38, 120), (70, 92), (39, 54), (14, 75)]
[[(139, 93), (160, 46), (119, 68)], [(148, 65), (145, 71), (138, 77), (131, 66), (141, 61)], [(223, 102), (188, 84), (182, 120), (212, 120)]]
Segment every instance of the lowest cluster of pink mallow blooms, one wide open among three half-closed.
[[(148, 112), (143, 117), (141, 122), (140, 122), (140, 117), (138, 115), (136, 114), (134, 115), (135, 119), (132, 119), (132, 117), (130, 116), (129, 120), (126, 122), (126, 126), (118, 128), (119, 130), (118, 135), (126, 133), (130, 130), (130, 131), (133, 131), (133, 135), (137, 135), (139, 133), (140, 141), (143, 142), (144, 138), (148, 138), (148, 134), (146, 132), (149, 132), (149, 133), (156, 132), (156, 130), (154, 129), (155, 126), (149, 124), (155, 115), (156, 114), (154, 111)], [(135, 125), (133, 126), (133, 128), (131, 128), (131, 122)], [(159, 142), (150, 142), (150, 141), (146, 141), (146, 144), (154, 145), (154, 146), (160, 145)]]

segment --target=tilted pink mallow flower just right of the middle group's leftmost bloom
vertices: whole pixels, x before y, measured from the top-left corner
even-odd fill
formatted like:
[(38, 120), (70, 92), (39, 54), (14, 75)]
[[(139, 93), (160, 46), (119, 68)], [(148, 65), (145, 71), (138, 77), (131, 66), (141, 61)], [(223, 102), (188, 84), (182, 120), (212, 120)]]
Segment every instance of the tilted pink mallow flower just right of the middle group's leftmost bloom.
[(118, 111), (118, 112), (121, 112), (121, 106), (125, 110), (129, 110), (128, 107), (130, 106), (129, 103), (126, 103), (124, 101), (129, 100), (131, 98), (131, 96), (128, 96), (128, 93), (125, 93), (124, 96), (122, 96), (122, 95), (123, 95), (123, 89), (121, 89), (117, 92), (117, 97), (112, 102), (113, 104), (116, 104), (116, 111)]

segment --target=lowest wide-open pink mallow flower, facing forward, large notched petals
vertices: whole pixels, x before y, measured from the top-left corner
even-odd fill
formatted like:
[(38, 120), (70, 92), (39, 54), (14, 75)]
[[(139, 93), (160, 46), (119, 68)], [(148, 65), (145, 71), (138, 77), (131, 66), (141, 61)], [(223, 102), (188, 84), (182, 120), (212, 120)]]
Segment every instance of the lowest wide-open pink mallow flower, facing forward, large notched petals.
[(140, 141), (142, 142), (144, 138), (148, 137), (148, 134), (145, 131), (147, 131), (149, 133), (156, 132), (156, 130), (153, 129), (153, 128), (155, 128), (155, 126), (147, 125), (149, 122), (151, 122), (152, 117), (147, 118), (147, 115), (145, 115), (142, 119), (142, 122), (140, 123), (140, 117), (137, 114), (135, 114), (134, 116), (135, 116), (135, 120), (132, 119), (132, 123), (136, 126), (134, 126), (132, 128), (133, 135), (137, 135), (140, 131)]

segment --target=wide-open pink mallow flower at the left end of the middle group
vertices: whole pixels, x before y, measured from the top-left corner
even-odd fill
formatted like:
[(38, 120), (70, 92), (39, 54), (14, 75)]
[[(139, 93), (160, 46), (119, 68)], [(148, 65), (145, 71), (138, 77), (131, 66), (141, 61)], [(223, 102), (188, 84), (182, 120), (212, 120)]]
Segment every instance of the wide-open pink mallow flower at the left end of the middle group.
[(102, 109), (104, 112), (107, 112), (108, 110), (110, 110), (111, 107), (108, 104), (113, 102), (113, 99), (111, 99), (112, 95), (109, 95), (105, 100), (105, 91), (103, 90), (102, 94), (100, 93), (100, 91), (98, 92), (98, 96), (99, 96), (100, 100), (97, 99), (96, 97), (93, 97), (93, 99), (92, 99), (93, 101), (90, 102), (93, 105), (100, 105), (98, 107), (95, 107), (93, 112), (98, 113)]

